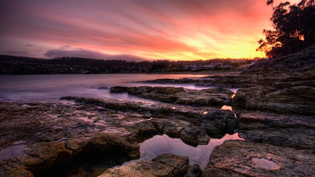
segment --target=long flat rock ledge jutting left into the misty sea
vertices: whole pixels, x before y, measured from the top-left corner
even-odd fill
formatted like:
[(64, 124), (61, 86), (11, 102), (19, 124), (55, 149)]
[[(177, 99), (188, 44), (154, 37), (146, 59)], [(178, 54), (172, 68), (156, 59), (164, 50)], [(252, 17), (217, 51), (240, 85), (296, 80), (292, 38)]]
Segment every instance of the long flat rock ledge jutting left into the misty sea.
[(183, 87), (111, 87), (111, 93), (127, 92), (137, 97), (154, 99), (168, 103), (197, 106), (223, 106), (231, 104), (234, 92), (225, 88), (202, 90), (184, 89)]

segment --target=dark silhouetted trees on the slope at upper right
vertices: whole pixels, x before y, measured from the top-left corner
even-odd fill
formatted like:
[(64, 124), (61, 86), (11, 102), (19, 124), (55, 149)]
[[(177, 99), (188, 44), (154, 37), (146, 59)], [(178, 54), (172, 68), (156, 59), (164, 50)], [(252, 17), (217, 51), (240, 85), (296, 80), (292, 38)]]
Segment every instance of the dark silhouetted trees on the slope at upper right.
[(258, 51), (267, 57), (279, 57), (299, 52), (315, 43), (315, 3), (314, 0), (302, 0), (290, 5), (286, 1), (273, 6), (273, 0), (267, 0), (272, 6), (274, 30), (263, 30), (265, 39), (260, 39)]

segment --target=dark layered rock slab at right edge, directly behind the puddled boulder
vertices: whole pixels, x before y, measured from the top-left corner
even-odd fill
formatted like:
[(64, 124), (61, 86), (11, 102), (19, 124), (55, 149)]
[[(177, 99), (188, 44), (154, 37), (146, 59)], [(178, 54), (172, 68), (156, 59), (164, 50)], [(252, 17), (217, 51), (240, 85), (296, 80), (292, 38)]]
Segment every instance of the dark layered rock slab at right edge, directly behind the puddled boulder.
[(250, 141), (297, 149), (314, 149), (315, 117), (241, 111), (239, 136)]

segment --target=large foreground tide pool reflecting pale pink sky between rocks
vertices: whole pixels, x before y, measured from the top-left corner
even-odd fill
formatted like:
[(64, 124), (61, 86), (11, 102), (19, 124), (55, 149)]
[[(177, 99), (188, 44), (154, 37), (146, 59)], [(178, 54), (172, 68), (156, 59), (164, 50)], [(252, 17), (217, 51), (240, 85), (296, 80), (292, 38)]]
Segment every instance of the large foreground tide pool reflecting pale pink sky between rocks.
[[(140, 160), (152, 160), (162, 153), (183, 155), (189, 157), (189, 164), (199, 164), (200, 169), (204, 170), (209, 162), (212, 150), (228, 139), (241, 139), (238, 134), (225, 134), (222, 139), (210, 139), (208, 145), (199, 145), (196, 148), (183, 143), (181, 139), (169, 138), (166, 134), (157, 135), (148, 139), (140, 145)], [(126, 162), (125, 164), (128, 164)]]

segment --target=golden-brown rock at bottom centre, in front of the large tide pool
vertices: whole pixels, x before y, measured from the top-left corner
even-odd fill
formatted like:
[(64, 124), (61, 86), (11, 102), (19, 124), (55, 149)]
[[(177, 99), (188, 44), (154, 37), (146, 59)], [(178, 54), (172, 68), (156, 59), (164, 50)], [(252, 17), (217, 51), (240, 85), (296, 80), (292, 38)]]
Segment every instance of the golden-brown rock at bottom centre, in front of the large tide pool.
[(188, 157), (162, 154), (152, 161), (137, 161), (122, 167), (108, 169), (99, 177), (106, 176), (183, 176), (189, 169)]

